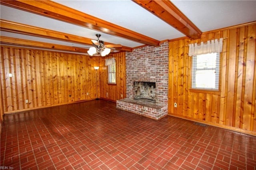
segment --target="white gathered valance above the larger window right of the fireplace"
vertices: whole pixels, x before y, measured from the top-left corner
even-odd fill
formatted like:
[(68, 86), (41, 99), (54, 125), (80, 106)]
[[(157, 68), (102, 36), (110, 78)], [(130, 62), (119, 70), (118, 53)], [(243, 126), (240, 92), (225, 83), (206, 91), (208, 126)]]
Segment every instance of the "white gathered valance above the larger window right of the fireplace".
[(219, 41), (218, 39), (208, 40), (207, 43), (201, 42), (200, 45), (197, 45), (197, 43), (189, 44), (188, 55), (195, 56), (207, 53), (220, 53), (222, 51), (222, 40), (223, 38), (220, 38)]

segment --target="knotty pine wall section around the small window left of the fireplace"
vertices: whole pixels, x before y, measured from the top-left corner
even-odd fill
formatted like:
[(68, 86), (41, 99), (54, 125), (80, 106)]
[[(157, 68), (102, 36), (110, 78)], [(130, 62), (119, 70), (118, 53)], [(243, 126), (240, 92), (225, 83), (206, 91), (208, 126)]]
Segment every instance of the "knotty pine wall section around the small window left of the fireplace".
[[(114, 57), (116, 60), (116, 84), (108, 84), (108, 71), (105, 59)], [(113, 56), (100, 58), (100, 97), (116, 101), (126, 97), (126, 53), (114, 53)]]

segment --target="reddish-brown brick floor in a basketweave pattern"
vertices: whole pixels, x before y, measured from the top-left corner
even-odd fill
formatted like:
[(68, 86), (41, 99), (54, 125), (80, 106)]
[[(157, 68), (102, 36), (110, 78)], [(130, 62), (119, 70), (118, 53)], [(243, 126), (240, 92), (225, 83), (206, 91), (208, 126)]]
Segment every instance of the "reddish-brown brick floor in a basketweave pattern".
[(14, 169), (256, 169), (256, 136), (104, 100), (5, 115), (0, 142), (0, 166)]

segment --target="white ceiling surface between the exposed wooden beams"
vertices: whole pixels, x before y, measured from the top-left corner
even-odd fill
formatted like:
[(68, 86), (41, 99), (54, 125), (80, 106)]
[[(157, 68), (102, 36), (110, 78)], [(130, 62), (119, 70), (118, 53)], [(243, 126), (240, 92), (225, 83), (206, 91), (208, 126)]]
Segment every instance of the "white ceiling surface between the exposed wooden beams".
[[(158, 41), (171, 40), (185, 35), (160, 20), (138, 4), (130, 0), (54, 0), (55, 2), (74, 8), (86, 14), (138, 32)], [(256, 21), (256, 0), (176, 0), (177, 6), (202, 32)], [(0, 6), (1, 19), (18, 22), (31, 26), (46, 28), (58, 32), (65, 32), (76, 36), (96, 39), (100, 33), (100, 40), (122, 44), (127, 47), (144, 45), (124, 38), (101, 33), (97, 30), (84, 28), (67, 22), (54, 20), (45, 16), (32, 14), (22, 10)], [(57, 41), (46, 38), (27, 36), (1, 31), (1, 36), (55, 43), (60, 45), (90, 47), (71, 42)]]

